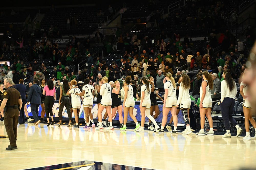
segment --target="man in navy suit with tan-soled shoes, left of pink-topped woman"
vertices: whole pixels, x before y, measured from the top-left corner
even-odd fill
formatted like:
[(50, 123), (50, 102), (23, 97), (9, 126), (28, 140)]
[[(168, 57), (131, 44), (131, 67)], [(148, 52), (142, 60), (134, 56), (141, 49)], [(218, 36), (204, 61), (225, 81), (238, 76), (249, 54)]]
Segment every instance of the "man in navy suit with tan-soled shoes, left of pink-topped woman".
[(30, 102), (31, 113), (35, 120), (34, 125), (38, 125), (40, 123), (40, 120), (38, 119), (38, 107), (41, 104), (41, 88), (37, 83), (38, 80), (34, 79), (33, 86), (30, 87), (28, 94), (28, 102)]

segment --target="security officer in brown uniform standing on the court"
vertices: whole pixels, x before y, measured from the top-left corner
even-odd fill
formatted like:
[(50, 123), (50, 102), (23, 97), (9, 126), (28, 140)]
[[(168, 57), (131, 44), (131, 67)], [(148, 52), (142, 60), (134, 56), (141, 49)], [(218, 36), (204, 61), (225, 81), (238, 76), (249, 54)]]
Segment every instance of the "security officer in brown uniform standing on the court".
[(3, 101), (0, 106), (0, 110), (5, 111), (4, 116), (4, 125), (7, 132), (10, 145), (6, 150), (15, 150), (18, 149), (16, 145), (17, 141), (17, 126), (18, 126), (18, 117), (19, 110), (22, 107), (22, 99), (18, 90), (13, 88), (13, 80), (11, 78), (4, 79), (4, 92)]

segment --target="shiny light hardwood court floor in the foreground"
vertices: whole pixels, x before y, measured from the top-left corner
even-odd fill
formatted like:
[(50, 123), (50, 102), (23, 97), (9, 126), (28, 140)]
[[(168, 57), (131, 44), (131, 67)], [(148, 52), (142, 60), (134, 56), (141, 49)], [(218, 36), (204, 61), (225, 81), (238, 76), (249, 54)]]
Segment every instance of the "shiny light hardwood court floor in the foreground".
[[(3, 122), (0, 135), (6, 135)], [(255, 167), (256, 140), (242, 138), (26, 123), (18, 125), (17, 150), (6, 151), (9, 140), (0, 138), (0, 166), (27, 169), (88, 160), (149, 169)]]

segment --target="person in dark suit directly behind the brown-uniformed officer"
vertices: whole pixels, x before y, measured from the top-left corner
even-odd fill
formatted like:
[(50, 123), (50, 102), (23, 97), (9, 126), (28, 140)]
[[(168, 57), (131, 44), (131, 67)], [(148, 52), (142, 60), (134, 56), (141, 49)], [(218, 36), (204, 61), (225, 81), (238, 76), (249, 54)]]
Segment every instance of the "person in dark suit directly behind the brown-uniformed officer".
[(23, 83), (24, 83), (24, 80), (23, 79), (19, 79), (19, 84), (15, 85), (15, 89), (18, 90), (18, 92), (21, 95), (21, 99), (22, 99), (22, 107), (20, 109), (20, 115), (19, 115), (19, 119), (18, 119), (20, 125), (25, 123), (24, 106), (25, 106), (25, 103), (26, 103), (26, 87), (24, 86)]

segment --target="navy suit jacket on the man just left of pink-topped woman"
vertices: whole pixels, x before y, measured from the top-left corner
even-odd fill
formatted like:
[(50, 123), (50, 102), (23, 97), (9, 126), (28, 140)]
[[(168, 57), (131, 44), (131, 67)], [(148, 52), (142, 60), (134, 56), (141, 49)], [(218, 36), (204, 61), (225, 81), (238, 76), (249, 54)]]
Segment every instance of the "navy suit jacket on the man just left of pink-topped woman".
[(28, 102), (41, 104), (41, 92), (41, 88), (37, 84), (33, 84), (29, 89)]

